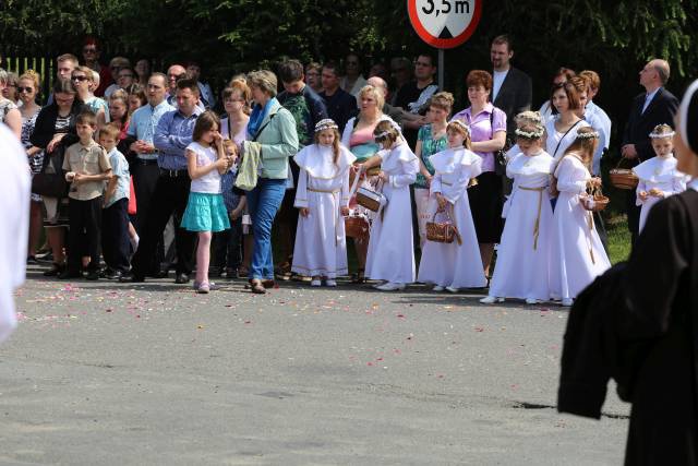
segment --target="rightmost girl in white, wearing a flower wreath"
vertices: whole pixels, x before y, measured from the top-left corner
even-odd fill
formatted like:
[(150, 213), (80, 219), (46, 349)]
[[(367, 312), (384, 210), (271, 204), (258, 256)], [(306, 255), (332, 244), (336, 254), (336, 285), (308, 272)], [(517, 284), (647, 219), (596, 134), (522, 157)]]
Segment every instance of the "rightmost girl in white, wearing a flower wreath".
[(650, 133), (655, 157), (645, 160), (633, 169), (639, 178), (637, 202), (640, 210), (640, 231), (647, 222), (650, 208), (660, 200), (686, 191), (686, 176), (676, 169), (672, 151), (674, 130), (669, 124), (658, 124)]

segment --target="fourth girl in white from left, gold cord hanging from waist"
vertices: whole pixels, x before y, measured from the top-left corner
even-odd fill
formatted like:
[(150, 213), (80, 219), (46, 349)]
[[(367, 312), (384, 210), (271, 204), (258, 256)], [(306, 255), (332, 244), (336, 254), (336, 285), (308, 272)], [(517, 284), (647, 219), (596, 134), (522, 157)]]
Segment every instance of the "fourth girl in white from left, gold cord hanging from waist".
[(555, 160), (543, 151), (542, 136), (540, 122), (526, 123), (516, 130), (521, 152), (506, 166), (514, 189), (507, 201), (507, 219), (490, 292), (480, 300), (482, 303), (518, 298), (535, 304), (550, 299), (547, 270), (553, 208), (549, 187)]

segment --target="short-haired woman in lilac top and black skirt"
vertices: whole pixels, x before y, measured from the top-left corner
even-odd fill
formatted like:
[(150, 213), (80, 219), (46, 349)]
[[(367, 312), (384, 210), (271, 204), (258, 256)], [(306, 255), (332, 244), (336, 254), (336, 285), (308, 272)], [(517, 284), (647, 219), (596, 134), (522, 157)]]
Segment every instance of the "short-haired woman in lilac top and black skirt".
[(470, 107), (454, 116), (470, 127), (472, 152), (482, 157), (482, 174), (477, 186), (468, 190), (470, 211), (476, 225), (484, 274), (490, 277), (494, 244), (500, 242), (504, 224), (502, 178), (494, 172), (494, 154), (506, 143), (506, 113), (490, 103), (492, 75), (472, 70), (466, 79)]

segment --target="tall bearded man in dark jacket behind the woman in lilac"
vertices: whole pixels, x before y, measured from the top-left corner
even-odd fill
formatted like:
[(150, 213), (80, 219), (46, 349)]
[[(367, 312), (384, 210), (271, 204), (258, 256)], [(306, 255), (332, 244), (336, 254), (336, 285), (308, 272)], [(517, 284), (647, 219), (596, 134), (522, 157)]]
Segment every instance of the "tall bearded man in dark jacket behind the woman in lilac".
[(507, 146), (513, 145), (516, 117), (521, 111), (531, 109), (533, 91), (531, 77), (512, 67), (514, 49), (512, 39), (504, 35), (492, 40), (490, 59), (492, 60), (492, 104), (506, 113)]

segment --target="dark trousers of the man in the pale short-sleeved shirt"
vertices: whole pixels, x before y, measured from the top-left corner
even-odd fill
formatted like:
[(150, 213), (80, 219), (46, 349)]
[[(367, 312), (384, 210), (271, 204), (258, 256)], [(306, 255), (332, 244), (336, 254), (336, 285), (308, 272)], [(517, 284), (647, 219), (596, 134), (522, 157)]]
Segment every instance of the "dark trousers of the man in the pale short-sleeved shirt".
[[(145, 219), (151, 212), (155, 187), (157, 186), (158, 178), (160, 178), (160, 169), (157, 166), (157, 160), (144, 160), (140, 158), (133, 160), (130, 167), (133, 174), (133, 191), (135, 192), (137, 207), (132, 222), (139, 236), (143, 236)], [(164, 260), (165, 242), (160, 235), (153, 262), (148, 264), (146, 274), (156, 274), (160, 270), (160, 263), (163, 263)]]

